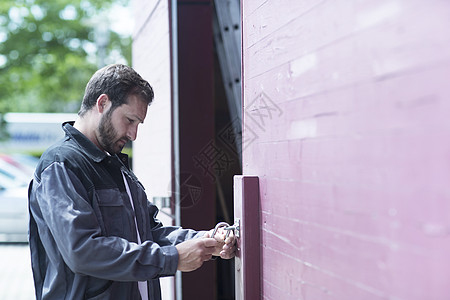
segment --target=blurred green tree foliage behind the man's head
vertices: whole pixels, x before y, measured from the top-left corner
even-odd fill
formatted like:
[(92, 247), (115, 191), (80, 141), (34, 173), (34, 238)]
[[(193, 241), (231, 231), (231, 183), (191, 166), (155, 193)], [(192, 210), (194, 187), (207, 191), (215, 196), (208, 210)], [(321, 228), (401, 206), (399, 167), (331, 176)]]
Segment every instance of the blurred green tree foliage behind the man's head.
[[(0, 114), (78, 111), (98, 68), (95, 29), (113, 3), (128, 0), (1, 0)], [(131, 37), (102, 35), (105, 62), (131, 64)]]

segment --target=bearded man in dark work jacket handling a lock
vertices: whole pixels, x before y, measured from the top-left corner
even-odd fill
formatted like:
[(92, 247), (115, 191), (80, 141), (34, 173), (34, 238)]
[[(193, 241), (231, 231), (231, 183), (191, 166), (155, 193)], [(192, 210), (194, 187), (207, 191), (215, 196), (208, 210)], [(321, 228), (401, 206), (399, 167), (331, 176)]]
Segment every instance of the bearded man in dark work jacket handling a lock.
[(130, 171), (121, 150), (152, 100), (132, 68), (100, 69), (65, 138), (42, 155), (29, 188), (37, 299), (160, 299), (159, 277), (234, 256), (234, 237), (162, 226)]

